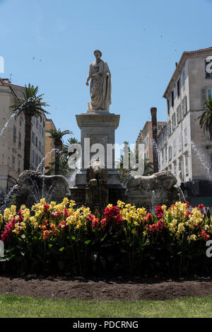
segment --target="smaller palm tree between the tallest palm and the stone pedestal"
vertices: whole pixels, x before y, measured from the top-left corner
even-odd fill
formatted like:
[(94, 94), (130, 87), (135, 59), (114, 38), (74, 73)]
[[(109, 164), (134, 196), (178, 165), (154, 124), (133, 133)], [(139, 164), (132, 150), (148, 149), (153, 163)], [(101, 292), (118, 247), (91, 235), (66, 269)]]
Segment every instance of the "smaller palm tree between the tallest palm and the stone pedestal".
[(55, 148), (55, 166), (54, 166), (54, 174), (58, 175), (59, 174), (59, 159), (60, 159), (60, 154), (63, 149), (63, 139), (64, 135), (66, 134), (73, 134), (73, 132), (70, 132), (70, 130), (64, 130), (61, 132), (61, 130), (47, 130), (46, 132), (49, 132), (50, 138), (53, 139), (54, 141), (54, 148)]

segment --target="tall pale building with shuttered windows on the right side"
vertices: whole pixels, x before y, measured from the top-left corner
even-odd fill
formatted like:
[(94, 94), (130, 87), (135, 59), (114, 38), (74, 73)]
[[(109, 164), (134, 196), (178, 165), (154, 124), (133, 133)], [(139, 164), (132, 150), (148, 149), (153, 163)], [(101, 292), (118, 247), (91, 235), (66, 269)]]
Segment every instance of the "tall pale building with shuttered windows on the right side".
[(212, 96), (211, 61), (212, 47), (184, 52), (163, 96), (167, 127), (158, 135), (159, 169), (171, 171), (179, 185), (211, 181), (212, 142), (198, 120)]

